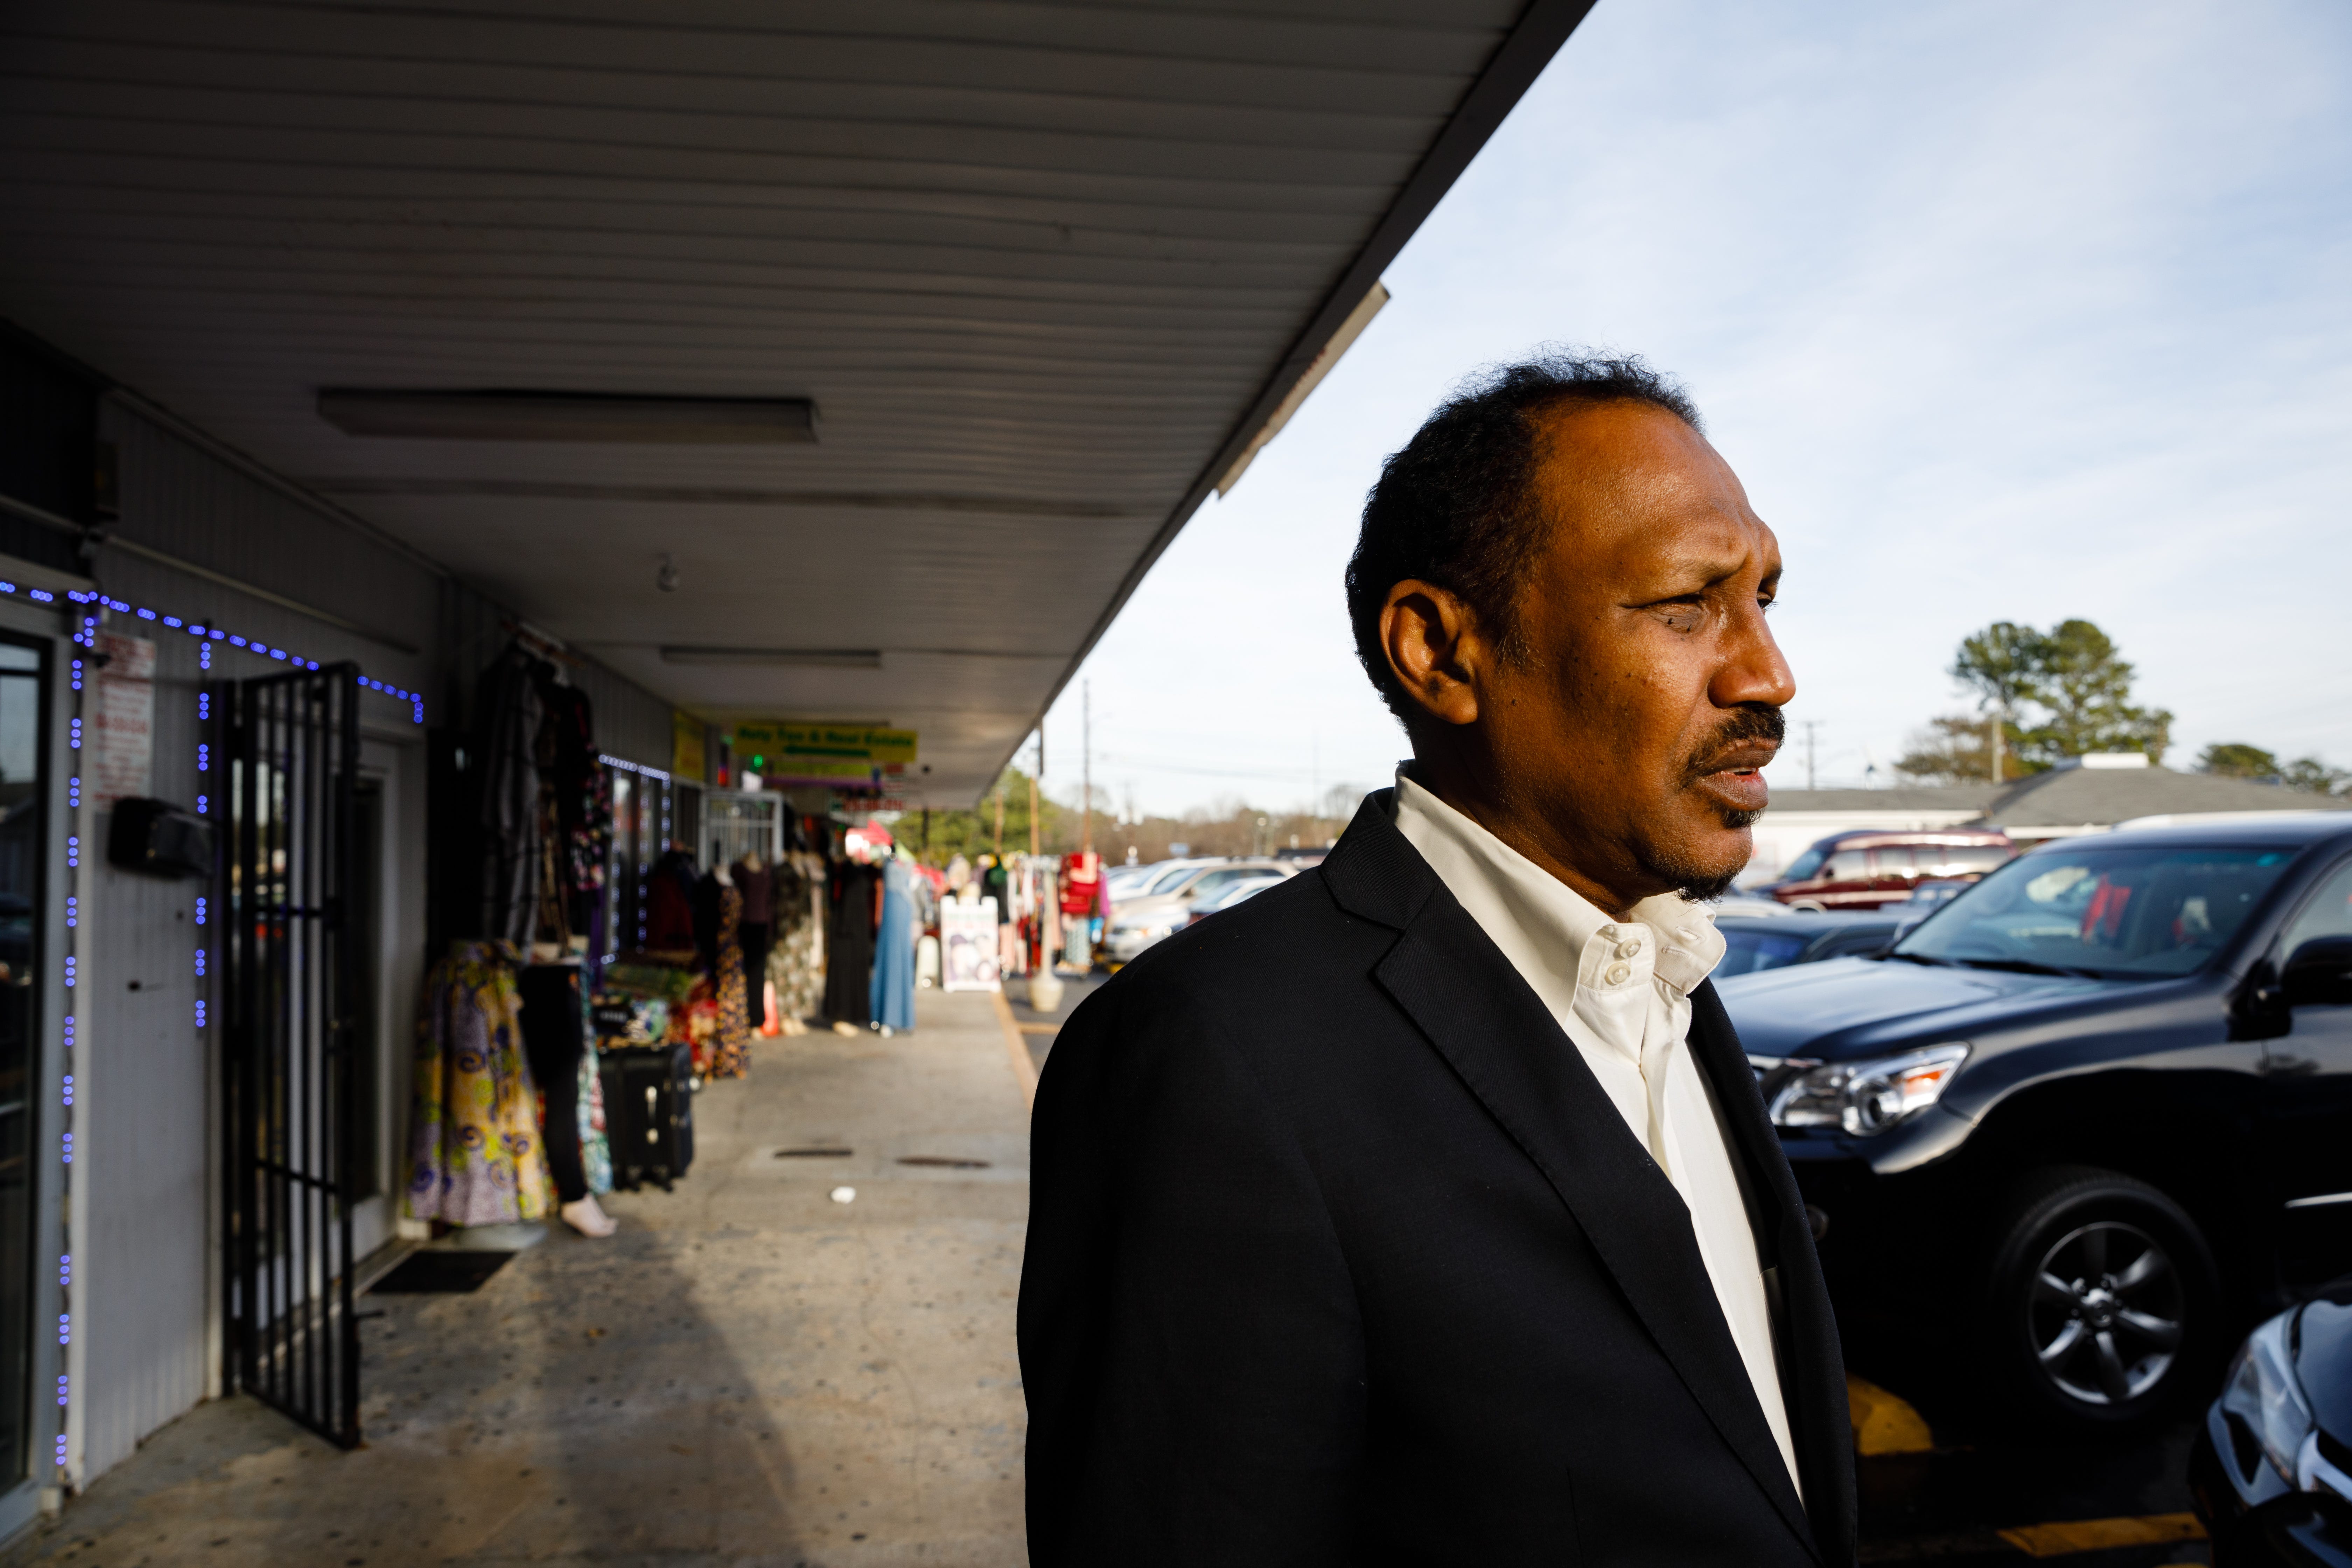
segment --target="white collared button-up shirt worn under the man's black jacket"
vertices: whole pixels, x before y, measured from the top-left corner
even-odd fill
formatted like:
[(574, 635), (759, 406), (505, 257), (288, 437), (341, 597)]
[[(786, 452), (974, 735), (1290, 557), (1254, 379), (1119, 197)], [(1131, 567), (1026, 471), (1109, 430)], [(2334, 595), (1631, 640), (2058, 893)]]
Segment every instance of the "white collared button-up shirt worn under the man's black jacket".
[(1705, 1074), (1686, 1048), (1691, 990), (1724, 957), (1712, 917), (1661, 893), (1637, 903), (1632, 919), (1613, 922), (1402, 771), (1397, 832), (1534, 987), (1635, 1143), (1675, 1182), (1731, 1342), (1802, 1495), (1755, 1229)]

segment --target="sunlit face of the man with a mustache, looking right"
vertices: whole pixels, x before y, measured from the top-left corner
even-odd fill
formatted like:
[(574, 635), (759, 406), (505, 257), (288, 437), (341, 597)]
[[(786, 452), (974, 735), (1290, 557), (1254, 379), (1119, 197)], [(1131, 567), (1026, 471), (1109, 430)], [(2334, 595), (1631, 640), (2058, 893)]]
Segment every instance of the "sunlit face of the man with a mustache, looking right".
[(1797, 691), (1764, 623), (1780, 548), (1665, 409), (1571, 404), (1545, 435), (1555, 522), (1519, 592), (1517, 654), (1463, 649), (1475, 792), (1512, 830), (1489, 827), (1625, 905), (1722, 891), (1748, 865), (1759, 769)]

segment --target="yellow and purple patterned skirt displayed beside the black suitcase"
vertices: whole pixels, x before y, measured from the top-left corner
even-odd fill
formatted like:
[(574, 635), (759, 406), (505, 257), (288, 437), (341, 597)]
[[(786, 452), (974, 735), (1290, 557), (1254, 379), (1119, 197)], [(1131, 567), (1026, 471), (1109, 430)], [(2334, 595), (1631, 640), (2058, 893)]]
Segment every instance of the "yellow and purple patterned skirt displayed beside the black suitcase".
[(416, 1020), (407, 1213), (510, 1225), (555, 1208), (522, 1063), (522, 994), (508, 943), (452, 943)]

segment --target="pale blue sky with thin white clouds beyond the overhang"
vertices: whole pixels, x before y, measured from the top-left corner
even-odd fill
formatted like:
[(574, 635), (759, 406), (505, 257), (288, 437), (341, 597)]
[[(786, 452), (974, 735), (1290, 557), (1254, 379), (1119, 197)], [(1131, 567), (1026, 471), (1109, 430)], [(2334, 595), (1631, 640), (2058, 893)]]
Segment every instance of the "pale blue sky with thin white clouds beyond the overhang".
[[(1543, 341), (1691, 388), (1788, 555), (1820, 783), (1889, 783), (1997, 618), (2098, 621), (2173, 766), (2352, 764), (2347, 197), (2336, 0), (1602, 0), (1089, 658), (1094, 776), (1157, 813), (1385, 783), (1341, 602), (1364, 489)], [(1802, 748), (1771, 776), (1802, 788)]]

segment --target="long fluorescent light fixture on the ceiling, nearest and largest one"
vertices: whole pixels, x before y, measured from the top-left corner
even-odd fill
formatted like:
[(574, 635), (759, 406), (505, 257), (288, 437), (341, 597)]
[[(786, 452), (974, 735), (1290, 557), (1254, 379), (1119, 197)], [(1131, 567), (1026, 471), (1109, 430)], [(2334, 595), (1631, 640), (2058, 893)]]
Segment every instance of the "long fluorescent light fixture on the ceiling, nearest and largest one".
[(609, 393), (367, 393), (329, 388), (318, 411), (343, 435), (433, 442), (764, 447), (816, 440), (807, 397), (626, 397)]

